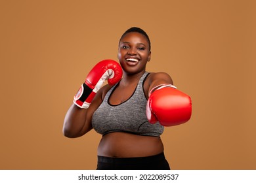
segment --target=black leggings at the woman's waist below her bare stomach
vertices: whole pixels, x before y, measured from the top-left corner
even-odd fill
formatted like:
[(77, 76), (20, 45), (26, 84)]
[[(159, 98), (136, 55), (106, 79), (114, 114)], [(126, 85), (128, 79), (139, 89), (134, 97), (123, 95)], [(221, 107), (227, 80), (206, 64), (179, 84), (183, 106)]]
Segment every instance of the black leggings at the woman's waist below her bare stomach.
[(139, 158), (109, 158), (98, 156), (97, 170), (169, 170), (163, 152)]

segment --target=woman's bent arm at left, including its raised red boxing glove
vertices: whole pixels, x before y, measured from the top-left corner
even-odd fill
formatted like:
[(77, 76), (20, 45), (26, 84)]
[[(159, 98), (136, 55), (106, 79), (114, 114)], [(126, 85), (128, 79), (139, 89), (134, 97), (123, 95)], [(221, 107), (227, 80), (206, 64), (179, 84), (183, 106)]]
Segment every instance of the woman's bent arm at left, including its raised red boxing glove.
[(113, 60), (100, 61), (93, 67), (76, 93), (74, 104), (68, 109), (64, 118), (63, 133), (66, 137), (80, 137), (93, 128), (91, 118), (93, 112), (102, 103), (102, 93), (106, 88), (100, 87), (106, 79), (108, 84), (116, 84), (121, 76), (121, 66)]

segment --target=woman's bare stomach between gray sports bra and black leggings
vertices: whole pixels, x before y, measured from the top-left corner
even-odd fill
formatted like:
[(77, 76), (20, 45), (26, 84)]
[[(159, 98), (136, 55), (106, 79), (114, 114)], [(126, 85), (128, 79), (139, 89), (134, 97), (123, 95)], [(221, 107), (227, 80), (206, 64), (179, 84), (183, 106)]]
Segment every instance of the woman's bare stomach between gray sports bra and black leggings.
[(160, 137), (113, 132), (104, 135), (98, 145), (98, 156), (133, 158), (154, 156), (163, 152)]

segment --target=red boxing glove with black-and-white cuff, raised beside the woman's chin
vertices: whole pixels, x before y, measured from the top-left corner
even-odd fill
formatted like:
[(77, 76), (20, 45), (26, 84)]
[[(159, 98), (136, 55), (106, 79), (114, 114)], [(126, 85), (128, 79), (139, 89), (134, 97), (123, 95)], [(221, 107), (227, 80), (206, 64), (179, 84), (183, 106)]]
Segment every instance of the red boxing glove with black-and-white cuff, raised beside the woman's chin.
[(122, 75), (123, 70), (116, 61), (112, 59), (100, 61), (90, 71), (85, 79), (85, 83), (81, 85), (74, 96), (74, 104), (80, 108), (88, 108), (107, 78), (108, 84), (114, 85), (121, 80)]

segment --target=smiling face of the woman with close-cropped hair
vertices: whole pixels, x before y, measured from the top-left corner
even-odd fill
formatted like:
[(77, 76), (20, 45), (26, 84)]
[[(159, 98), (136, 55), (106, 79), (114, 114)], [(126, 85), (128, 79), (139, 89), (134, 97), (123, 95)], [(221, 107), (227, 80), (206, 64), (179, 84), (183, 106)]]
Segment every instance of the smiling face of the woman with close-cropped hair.
[(149, 44), (144, 35), (137, 32), (127, 33), (120, 40), (118, 59), (126, 73), (144, 73), (150, 57)]

